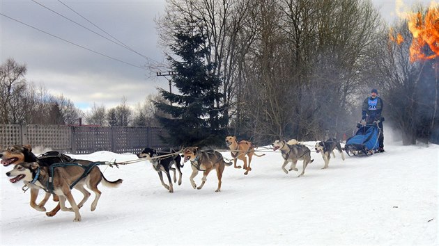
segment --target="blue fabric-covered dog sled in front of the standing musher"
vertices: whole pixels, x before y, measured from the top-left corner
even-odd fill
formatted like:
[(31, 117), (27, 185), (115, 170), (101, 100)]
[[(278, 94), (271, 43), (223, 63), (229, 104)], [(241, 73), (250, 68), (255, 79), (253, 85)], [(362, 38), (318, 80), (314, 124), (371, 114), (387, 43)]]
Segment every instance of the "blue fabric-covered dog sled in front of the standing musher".
[(365, 154), (369, 156), (378, 152), (380, 128), (378, 123), (374, 124), (357, 124), (357, 132), (346, 140), (344, 150), (348, 156)]

